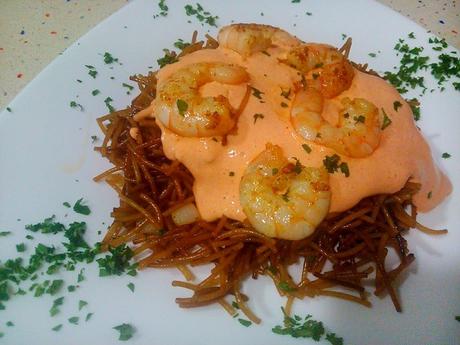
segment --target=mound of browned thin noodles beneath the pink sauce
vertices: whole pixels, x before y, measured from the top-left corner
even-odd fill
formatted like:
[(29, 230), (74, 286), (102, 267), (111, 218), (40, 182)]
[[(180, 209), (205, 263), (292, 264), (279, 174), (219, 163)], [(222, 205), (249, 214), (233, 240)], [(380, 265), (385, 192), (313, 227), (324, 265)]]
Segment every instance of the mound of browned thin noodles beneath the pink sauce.
[[(193, 43), (179, 56), (216, 47), (213, 38), (207, 36), (206, 42), (197, 42), (194, 33)], [(351, 39), (340, 51), (348, 56), (350, 48)], [(366, 66), (361, 69), (366, 70)], [(415, 258), (403, 234), (411, 227), (428, 233), (445, 232), (416, 221), (412, 196), (418, 192), (418, 184), (409, 181), (395, 194), (368, 197), (348, 211), (330, 214), (312, 236), (300, 241), (268, 238), (250, 225), (226, 217), (177, 226), (171, 214), (194, 202), (194, 178), (180, 162), (166, 158), (161, 131), (154, 122), (141, 126), (132, 120), (155, 98), (156, 72), (131, 80), (140, 89), (131, 106), (98, 119), (105, 138), (96, 150), (114, 167), (94, 179), (107, 181), (120, 197), (103, 248), (132, 244), (136, 257), (142, 256), (140, 268), (178, 268), (187, 282), (174, 281), (173, 286), (192, 293), (176, 300), (181, 307), (219, 303), (233, 315), (235, 310), (224, 299), (233, 295), (256, 323), (260, 319), (246, 305), (240, 286), (249, 276), (258, 275), (270, 276), (279, 293), (288, 297), (287, 310), (294, 298), (319, 295), (370, 307), (364, 287), (364, 281), (370, 279), (375, 282), (375, 294), (388, 293), (396, 310), (401, 310), (396, 280)], [(130, 137), (130, 129), (135, 127), (139, 130), (137, 140)], [(406, 213), (408, 207), (411, 214)], [(400, 263), (386, 271), (390, 247), (396, 250)], [(296, 263), (303, 264), (298, 278), (288, 273), (288, 267)], [(203, 264), (213, 264), (214, 268), (203, 281), (192, 282), (189, 266)]]

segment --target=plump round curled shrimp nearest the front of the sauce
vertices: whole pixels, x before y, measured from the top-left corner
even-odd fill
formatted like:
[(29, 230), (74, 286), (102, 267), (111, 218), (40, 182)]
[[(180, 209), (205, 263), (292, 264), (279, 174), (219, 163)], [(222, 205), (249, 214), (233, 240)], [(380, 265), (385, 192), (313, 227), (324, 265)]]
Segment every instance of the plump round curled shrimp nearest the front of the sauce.
[(299, 240), (313, 233), (329, 212), (329, 175), (290, 163), (279, 146), (267, 144), (246, 168), (240, 202), (254, 228), (270, 237)]

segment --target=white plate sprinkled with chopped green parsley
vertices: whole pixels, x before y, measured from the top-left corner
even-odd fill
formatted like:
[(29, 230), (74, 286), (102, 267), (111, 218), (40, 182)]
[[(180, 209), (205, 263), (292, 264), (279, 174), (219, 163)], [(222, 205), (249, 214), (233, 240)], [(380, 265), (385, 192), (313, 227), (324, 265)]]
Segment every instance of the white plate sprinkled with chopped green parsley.
[[(378, 71), (397, 64), (393, 46), (398, 38), (414, 32), (414, 45), (428, 46), (431, 35), (390, 9), (373, 1), (200, 1), (212, 14), (218, 15), (218, 25), (235, 22), (259, 22), (280, 26), (307, 41), (342, 44), (342, 33), (353, 37), (351, 57), (368, 61)], [(148, 66), (162, 56), (177, 38), (188, 40), (193, 30), (204, 34), (208, 29), (194, 17), (187, 17), (182, 1), (167, 1), (169, 14), (154, 19), (158, 13), (156, 1), (134, 1), (98, 25), (48, 66), (10, 104), (12, 112), (0, 114), (0, 230), (14, 234), (0, 238), (2, 259), (18, 254), (15, 244), (24, 240), (24, 225), (56, 214), (68, 223), (85, 218), (87, 239), (100, 239), (98, 230), (110, 223), (109, 213), (118, 199), (103, 184), (91, 178), (108, 167), (93, 152), (90, 136), (100, 135), (95, 119), (106, 112), (103, 100), (110, 96), (117, 108), (124, 107), (132, 96), (121, 86), (134, 73), (145, 73)], [(263, 12), (263, 16), (261, 15)], [(305, 13), (311, 12), (308, 16)], [(191, 23), (187, 21), (190, 20)], [(123, 65), (104, 65), (102, 56), (110, 52)], [(370, 52), (381, 51), (377, 58)], [(429, 54), (434, 52), (427, 49)], [(434, 54), (433, 54), (434, 55)], [(96, 79), (87, 74), (85, 64), (94, 65)], [(110, 79), (113, 76), (115, 79)], [(76, 82), (81, 79), (82, 83)], [(430, 77), (429, 86), (435, 85)], [(93, 89), (101, 94), (92, 96)], [(416, 95), (417, 96), (417, 95)], [(451, 88), (420, 97), (422, 128), (431, 144), (438, 164), (449, 175), (454, 191), (460, 188), (460, 97)], [(81, 112), (69, 106), (75, 100), (82, 104)], [(448, 160), (441, 153), (452, 154)], [(92, 214), (78, 216), (62, 206), (80, 197), (89, 200)], [(460, 339), (460, 216), (458, 192), (454, 192), (433, 212), (422, 216), (430, 226), (450, 229), (447, 236), (430, 237), (417, 232), (409, 236), (416, 263), (400, 289), (404, 312), (394, 311), (389, 298), (372, 298), (373, 308), (331, 298), (297, 301), (294, 311), (313, 314), (326, 327), (345, 338), (346, 344), (454, 344)], [(68, 216), (66, 214), (68, 213)], [(20, 219), (20, 220), (18, 220)], [(105, 223), (103, 223), (105, 222)], [(47, 242), (52, 237), (36, 236)], [(55, 240), (54, 240), (55, 241)], [(32, 243), (29, 244), (29, 252)], [(97, 277), (96, 265), (86, 269), (86, 281), (73, 294), (65, 294), (59, 315), (51, 318), (48, 310), (53, 298), (24, 296), (13, 298), (7, 309), (0, 311), (0, 332), (5, 344), (117, 344), (113, 326), (123, 322), (133, 324), (137, 332), (130, 344), (308, 344), (309, 340), (275, 335), (271, 327), (281, 324), (279, 307), (284, 301), (277, 296), (267, 279), (248, 283), (245, 291), (252, 297), (250, 305), (263, 318), (261, 326), (245, 328), (218, 306), (182, 310), (174, 298), (187, 292), (170, 286), (179, 278), (173, 270), (147, 270), (138, 277)], [(63, 275), (74, 283), (76, 273)], [(126, 284), (134, 282), (136, 292)], [(89, 302), (78, 312), (78, 300)], [(94, 312), (90, 322), (73, 326), (67, 318)], [(15, 327), (6, 327), (11, 320)], [(63, 323), (58, 333), (51, 327)], [(313, 343), (313, 342), (312, 342)]]

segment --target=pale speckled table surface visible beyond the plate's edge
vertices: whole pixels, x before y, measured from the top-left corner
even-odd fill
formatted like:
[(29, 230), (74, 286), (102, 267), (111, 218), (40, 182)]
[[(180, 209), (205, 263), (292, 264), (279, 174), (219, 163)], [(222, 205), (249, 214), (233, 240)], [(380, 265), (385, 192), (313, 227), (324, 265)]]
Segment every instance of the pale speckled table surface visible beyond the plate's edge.
[[(0, 109), (6, 107), (59, 53), (127, 2), (1, 0)], [(460, 5), (457, 1), (380, 2), (460, 49)]]

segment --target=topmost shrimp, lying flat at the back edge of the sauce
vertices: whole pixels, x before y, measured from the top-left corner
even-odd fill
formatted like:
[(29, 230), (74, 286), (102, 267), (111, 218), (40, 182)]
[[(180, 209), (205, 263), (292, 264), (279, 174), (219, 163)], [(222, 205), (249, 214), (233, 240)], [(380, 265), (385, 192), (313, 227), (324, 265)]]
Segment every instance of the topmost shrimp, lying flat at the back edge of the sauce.
[(266, 50), (271, 46), (291, 47), (300, 40), (288, 32), (263, 24), (232, 24), (224, 26), (217, 36), (219, 45), (232, 49), (243, 57)]

